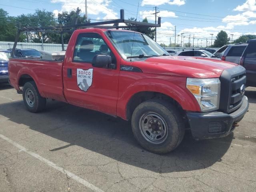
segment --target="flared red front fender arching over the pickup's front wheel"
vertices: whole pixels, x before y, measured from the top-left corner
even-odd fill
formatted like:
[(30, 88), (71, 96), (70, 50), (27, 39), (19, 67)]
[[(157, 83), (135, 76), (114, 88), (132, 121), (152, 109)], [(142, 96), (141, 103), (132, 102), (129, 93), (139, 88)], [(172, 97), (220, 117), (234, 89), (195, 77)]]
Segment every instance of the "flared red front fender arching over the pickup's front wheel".
[(130, 84), (122, 94), (119, 92), (117, 115), (123, 119), (127, 119), (126, 109), (129, 100), (134, 94), (145, 91), (165, 94), (178, 102), (184, 110), (200, 111), (198, 102), (186, 88), (186, 77), (175, 76), (170, 78), (171, 79), (144, 78)]

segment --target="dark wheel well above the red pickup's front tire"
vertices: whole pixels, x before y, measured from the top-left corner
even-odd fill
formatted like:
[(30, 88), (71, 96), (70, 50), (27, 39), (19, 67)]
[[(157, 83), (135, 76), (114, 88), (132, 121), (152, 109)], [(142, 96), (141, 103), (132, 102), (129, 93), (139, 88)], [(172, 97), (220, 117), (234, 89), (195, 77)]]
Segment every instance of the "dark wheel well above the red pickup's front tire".
[(143, 91), (143, 92), (138, 92), (138, 93), (134, 94), (132, 96), (132, 98), (130, 98), (130, 100), (127, 104), (127, 107), (126, 107), (127, 120), (130, 120), (130, 118), (132, 117), (132, 113), (134, 112), (135, 108), (139, 104), (141, 104), (142, 102), (144, 102), (146, 100), (150, 100), (150, 99), (162, 99), (167, 102), (170, 102), (177, 107), (177, 109), (181, 112), (182, 116), (183, 115), (186, 116), (186, 114), (185, 114), (184, 110), (182, 109), (182, 107), (180, 106), (180, 104), (176, 100), (171, 98), (170, 96), (159, 93), (159, 92)]

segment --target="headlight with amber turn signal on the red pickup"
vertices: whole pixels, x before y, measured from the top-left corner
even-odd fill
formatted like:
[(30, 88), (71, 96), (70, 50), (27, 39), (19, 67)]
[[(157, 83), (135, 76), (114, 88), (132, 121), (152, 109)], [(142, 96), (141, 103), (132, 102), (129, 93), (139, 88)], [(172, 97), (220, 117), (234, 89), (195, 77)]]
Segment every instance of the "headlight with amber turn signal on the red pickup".
[(220, 80), (218, 78), (187, 78), (187, 88), (195, 96), (202, 111), (219, 108)]

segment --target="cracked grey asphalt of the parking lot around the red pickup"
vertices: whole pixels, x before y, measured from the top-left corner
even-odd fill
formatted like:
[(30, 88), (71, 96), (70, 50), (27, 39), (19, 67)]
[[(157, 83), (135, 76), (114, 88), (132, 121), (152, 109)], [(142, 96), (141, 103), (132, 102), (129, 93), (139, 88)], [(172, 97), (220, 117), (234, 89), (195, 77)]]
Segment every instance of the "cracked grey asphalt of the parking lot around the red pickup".
[[(234, 133), (195, 141), (186, 134), (169, 154), (143, 150), (130, 123), (49, 101), (33, 114), (22, 95), (0, 84), (0, 134), (102, 191), (256, 191), (256, 88)], [(92, 191), (73, 177), (0, 138), (1, 192)]]

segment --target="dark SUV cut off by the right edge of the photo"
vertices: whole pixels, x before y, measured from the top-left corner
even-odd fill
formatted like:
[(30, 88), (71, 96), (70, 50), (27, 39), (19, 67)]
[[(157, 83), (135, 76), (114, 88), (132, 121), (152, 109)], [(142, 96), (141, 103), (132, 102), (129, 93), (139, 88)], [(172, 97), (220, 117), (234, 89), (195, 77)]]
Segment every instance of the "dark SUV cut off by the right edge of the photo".
[(247, 43), (240, 65), (246, 69), (246, 86), (256, 87), (256, 39), (248, 40)]

